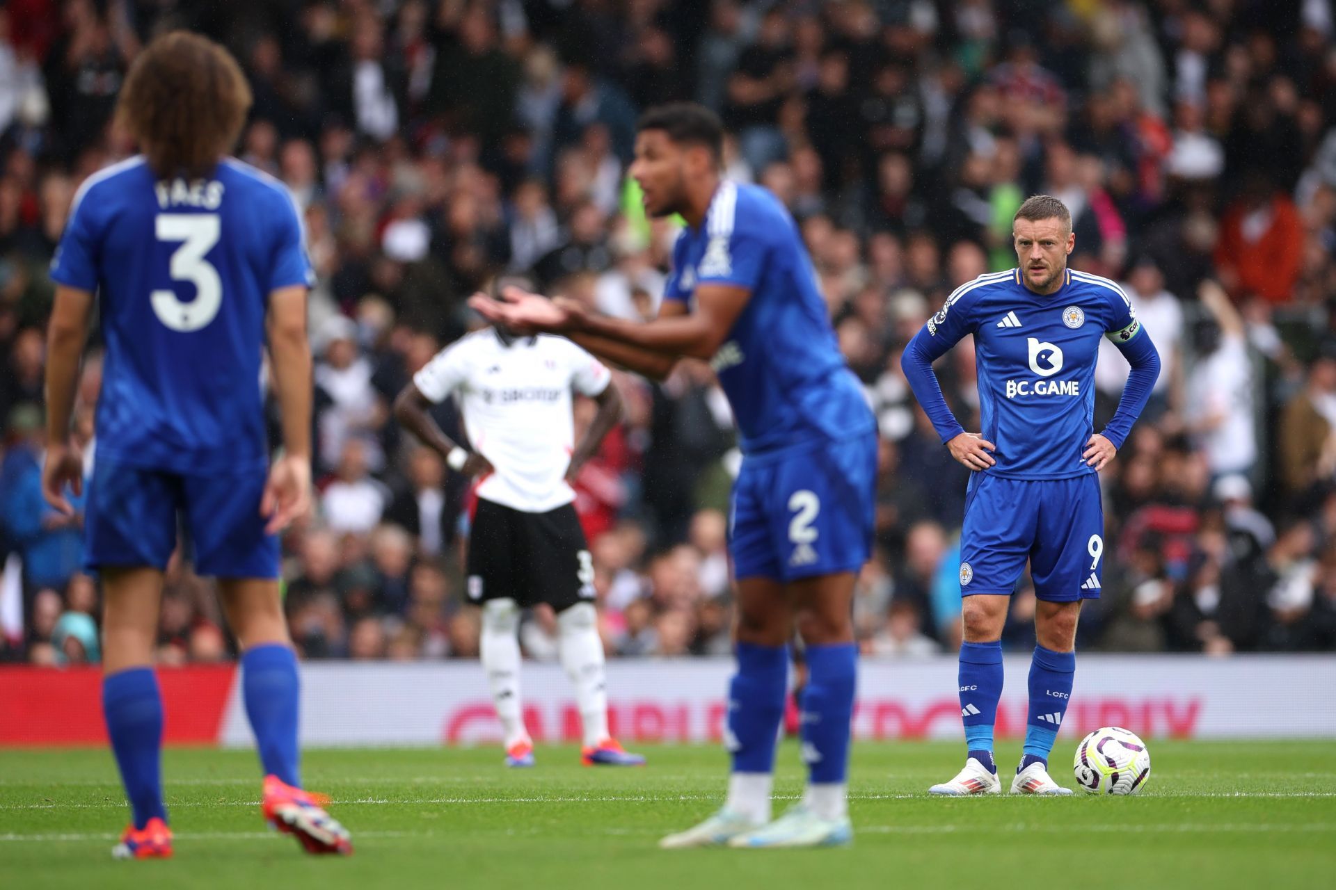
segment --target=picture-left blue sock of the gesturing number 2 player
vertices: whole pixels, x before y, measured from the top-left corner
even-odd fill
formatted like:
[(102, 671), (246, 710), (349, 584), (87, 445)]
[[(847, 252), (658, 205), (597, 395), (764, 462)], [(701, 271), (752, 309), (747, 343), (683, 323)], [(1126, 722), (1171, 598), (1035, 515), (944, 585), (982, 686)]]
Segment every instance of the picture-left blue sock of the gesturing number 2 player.
[(787, 646), (737, 643), (737, 673), (728, 685), (733, 773), (774, 771), (787, 685)]

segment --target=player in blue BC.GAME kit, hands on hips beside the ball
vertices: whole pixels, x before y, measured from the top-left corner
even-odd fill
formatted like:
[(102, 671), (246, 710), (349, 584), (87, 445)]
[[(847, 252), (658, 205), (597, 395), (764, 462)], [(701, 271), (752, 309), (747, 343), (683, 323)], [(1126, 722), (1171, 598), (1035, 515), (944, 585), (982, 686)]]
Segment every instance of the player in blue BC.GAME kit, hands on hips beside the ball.
[[(1100, 596), (1104, 510), (1098, 471), (1122, 447), (1160, 374), (1150, 335), (1128, 295), (1067, 268), (1071, 216), (1047, 195), (1013, 224), (1018, 267), (957, 288), (902, 358), (938, 435), (970, 476), (961, 530), (961, 717), (965, 769), (934, 794), (1001, 791), (993, 726), (1002, 694), (1002, 626), (1026, 563), (1038, 598), (1030, 711), (1013, 794), (1070, 794), (1047, 757), (1071, 698), (1081, 602)], [(953, 416), (933, 362), (967, 335), (978, 366), (979, 434)], [(1109, 338), (1132, 366), (1118, 410), (1096, 431), (1094, 367)]]

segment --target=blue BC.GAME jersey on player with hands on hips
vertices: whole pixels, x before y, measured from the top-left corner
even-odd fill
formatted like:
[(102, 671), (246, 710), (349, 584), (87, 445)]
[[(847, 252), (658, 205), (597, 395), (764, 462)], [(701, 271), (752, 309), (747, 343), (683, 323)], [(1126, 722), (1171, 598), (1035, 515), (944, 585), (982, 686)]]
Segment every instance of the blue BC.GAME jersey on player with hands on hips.
[[(941, 355), (974, 335), (982, 435), (997, 446), (983, 472), (1014, 479), (1065, 479), (1094, 472), (1082, 452), (1094, 424), (1100, 338), (1128, 343), (1141, 334), (1132, 300), (1106, 278), (1067, 270), (1041, 296), (1019, 270), (981, 275), (947, 298), (918, 338)], [(947, 438), (947, 431), (942, 431)]]

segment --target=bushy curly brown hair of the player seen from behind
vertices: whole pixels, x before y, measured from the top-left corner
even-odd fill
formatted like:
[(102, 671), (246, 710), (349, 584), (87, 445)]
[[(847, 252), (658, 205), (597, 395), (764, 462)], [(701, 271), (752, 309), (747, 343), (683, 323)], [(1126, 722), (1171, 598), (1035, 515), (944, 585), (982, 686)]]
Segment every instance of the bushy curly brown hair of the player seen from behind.
[(230, 52), (172, 31), (135, 59), (116, 117), (158, 176), (204, 176), (236, 143), (250, 105), (250, 84)]

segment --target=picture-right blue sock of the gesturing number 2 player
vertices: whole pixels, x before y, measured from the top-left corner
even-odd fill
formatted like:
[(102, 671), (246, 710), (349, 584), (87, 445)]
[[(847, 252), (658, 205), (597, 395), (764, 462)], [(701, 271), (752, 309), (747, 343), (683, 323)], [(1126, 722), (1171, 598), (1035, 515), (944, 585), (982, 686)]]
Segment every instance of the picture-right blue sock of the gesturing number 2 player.
[(858, 646), (808, 646), (806, 654), (803, 757), (812, 785), (843, 785), (848, 771), (850, 723), (858, 686)]

